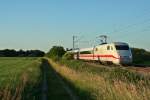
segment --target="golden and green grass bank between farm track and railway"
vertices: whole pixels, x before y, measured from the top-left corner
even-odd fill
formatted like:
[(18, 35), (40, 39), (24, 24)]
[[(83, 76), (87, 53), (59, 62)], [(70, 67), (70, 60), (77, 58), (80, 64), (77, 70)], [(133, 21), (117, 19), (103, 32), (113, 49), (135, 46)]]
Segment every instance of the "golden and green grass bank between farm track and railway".
[(96, 67), (75, 60), (50, 62), (81, 100), (150, 99), (150, 76), (121, 67)]

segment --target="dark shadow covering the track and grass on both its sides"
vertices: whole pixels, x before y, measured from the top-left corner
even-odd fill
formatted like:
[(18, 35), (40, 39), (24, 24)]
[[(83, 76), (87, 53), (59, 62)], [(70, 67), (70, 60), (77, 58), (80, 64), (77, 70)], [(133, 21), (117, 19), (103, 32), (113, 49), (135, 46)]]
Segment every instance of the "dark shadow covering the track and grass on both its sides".
[[(30, 81), (26, 82), (21, 93), (21, 100), (43, 100), (43, 94), (46, 96), (45, 100), (94, 100), (89, 91), (76, 87), (74, 83), (57, 73), (47, 59), (42, 58), (41, 61), (39, 77), (35, 79), (34, 84)], [(43, 86), (44, 75), (46, 86)], [(43, 87), (46, 89), (43, 90)], [(68, 87), (72, 96), (65, 87)]]

